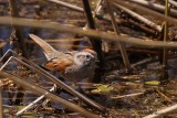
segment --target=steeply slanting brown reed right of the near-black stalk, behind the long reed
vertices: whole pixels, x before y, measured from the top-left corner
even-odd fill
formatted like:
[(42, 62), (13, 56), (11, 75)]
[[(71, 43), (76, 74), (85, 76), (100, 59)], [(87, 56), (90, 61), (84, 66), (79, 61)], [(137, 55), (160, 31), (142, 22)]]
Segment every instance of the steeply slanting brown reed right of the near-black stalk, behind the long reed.
[[(117, 36), (117, 35), (119, 35), (119, 31), (118, 31), (117, 23), (116, 23), (115, 17), (114, 17), (114, 11), (112, 9), (112, 4), (107, 0), (105, 0), (105, 2), (106, 2), (106, 8), (108, 10), (108, 13), (111, 15), (112, 25), (113, 25), (114, 31), (115, 31), (116, 36)], [(119, 45), (119, 50), (121, 50), (121, 54), (122, 54), (122, 57), (123, 57), (124, 65), (125, 65), (127, 71), (131, 71), (132, 68), (131, 68), (128, 55), (127, 55), (127, 52), (125, 50), (124, 43), (119, 42), (118, 45)]]

